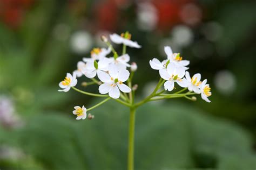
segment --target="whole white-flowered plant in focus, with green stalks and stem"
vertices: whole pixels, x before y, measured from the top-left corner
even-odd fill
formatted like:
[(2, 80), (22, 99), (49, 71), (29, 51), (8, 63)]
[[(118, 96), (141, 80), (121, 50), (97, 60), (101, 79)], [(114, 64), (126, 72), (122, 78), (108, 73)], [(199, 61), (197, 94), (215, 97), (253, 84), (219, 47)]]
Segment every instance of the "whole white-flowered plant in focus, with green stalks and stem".
[[(105, 37), (101, 37), (103, 42), (108, 48), (93, 48), (91, 51), (91, 58), (83, 58), (83, 61), (77, 63), (77, 70), (66, 74), (63, 81), (59, 83), (59, 87), (67, 92), (71, 88), (79, 93), (102, 97), (104, 100), (86, 109), (84, 105), (82, 107), (74, 107), (73, 114), (77, 116), (77, 120), (85, 119), (86, 112), (97, 108), (99, 105), (109, 101), (111, 98), (130, 108), (130, 122), (129, 122), (129, 140), (128, 140), (128, 158), (127, 168), (133, 169), (134, 160), (134, 123), (136, 109), (147, 102), (164, 100), (167, 98), (185, 97), (188, 100), (196, 101), (196, 97), (191, 95), (201, 94), (201, 98), (206, 102), (210, 102), (207, 97), (211, 96), (211, 88), (207, 84), (207, 80), (201, 80), (201, 74), (194, 74), (192, 77), (187, 72), (190, 61), (183, 60), (180, 53), (173, 53), (171, 47), (165, 46), (164, 51), (167, 55), (167, 59), (160, 62), (158, 59), (153, 58), (150, 60), (150, 66), (152, 69), (159, 70), (160, 80), (154, 88), (153, 92), (137, 103), (134, 102), (135, 91), (138, 87), (137, 84), (132, 84), (132, 77), (137, 70), (135, 62), (129, 64), (130, 56), (126, 53), (126, 46), (133, 48), (140, 48), (136, 41), (131, 40), (131, 34), (129, 32), (122, 33), (120, 36), (116, 33), (110, 35), (112, 42), (116, 44), (123, 44), (122, 55), (114, 50), (110, 41)], [(111, 57), (107, 57), (110, 53), (113, 53)], [(129, 71), (130, 70), (130, 71)], [(77, 77), (85, 75), (91, 79), (91, 82), (86, 82), (85, 85), (96, 84), (100, 94), (89, 93), (75, 88), (77, 84)], [(98, 79), (96, 78), (98, 77)], [(125, 84), (127, 82), (127, 85)], [(174, 86), (183, 87), (180, 91), (170, 93), (175, 89)], [(164, 90), (161, 87), (164, 86)], [(184, 91), (188, 90), (186, 93)], [(127, 95), (128, 94), (128, 95)], [(89, 114), (88, 118), (93, 118), (93, 115)]]

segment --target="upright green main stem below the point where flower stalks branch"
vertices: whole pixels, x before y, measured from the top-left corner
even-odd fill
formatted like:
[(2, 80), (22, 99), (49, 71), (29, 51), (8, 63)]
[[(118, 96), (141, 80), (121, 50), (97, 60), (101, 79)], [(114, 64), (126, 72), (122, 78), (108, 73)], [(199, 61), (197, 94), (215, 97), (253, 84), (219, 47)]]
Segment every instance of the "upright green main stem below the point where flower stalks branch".
[(135, 108), (130, 108), (127, 170), (134, 169), (134, 126)]

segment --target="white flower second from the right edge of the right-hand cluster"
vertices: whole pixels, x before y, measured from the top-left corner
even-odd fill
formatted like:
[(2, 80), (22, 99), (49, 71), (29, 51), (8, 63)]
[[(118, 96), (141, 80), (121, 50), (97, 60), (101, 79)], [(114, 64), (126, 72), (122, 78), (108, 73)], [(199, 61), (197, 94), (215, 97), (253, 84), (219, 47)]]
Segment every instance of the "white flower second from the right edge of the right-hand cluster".
[(186, 72), (186, 78), (183, 78), (183, 80), (180, 82), (181, 87), (187, 87), (188, 90), (194, 91), (194, 93), (201, 93), (201, 90), (199, 89), (200, 84), (202, 83), (201, 80), (201, 74), (197, 73), (190, 78), (190, 73)]

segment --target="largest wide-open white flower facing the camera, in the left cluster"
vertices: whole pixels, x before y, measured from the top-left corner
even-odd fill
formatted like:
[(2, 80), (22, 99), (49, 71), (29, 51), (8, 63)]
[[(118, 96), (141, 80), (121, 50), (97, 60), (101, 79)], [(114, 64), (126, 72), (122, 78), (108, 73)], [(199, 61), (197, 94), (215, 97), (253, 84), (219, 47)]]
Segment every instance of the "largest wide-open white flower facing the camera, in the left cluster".
[(124, 93), (130, 93), (130, 87), (126, 86), (125, 82), (129, 78), (129, 71), (126, 69), (118, 70), (116, 65), (111, 64), (109, 66), (109, 74), (105, 72), (98, 73), (99, 80), (104, 82), (99, 86), (100, 94), (107, 94), (112, 98), (119, 98), (120, 91)]

